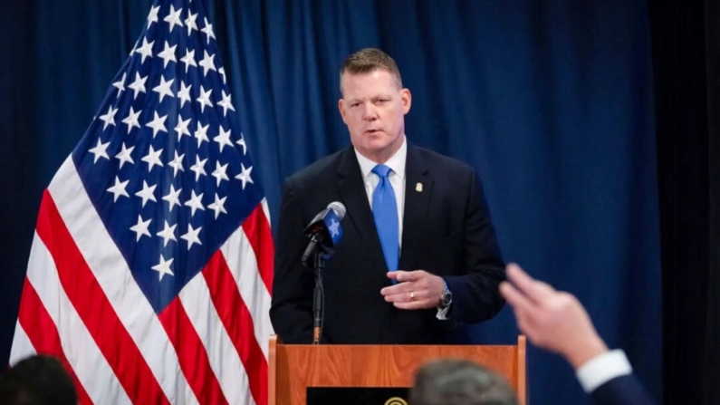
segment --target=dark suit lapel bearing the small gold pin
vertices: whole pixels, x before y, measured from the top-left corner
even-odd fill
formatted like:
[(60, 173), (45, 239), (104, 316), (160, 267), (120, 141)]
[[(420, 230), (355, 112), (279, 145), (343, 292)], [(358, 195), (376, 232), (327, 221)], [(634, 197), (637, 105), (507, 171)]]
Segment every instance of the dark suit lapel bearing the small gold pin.
[(402, 250), (399, 270), (411, 268), (417, 244), (427, 222), (427, 208), (433, 189), (433, 180), (417, 147), (408, 142), (408, 159), (405, 164), (405, 210), (402, 221)]

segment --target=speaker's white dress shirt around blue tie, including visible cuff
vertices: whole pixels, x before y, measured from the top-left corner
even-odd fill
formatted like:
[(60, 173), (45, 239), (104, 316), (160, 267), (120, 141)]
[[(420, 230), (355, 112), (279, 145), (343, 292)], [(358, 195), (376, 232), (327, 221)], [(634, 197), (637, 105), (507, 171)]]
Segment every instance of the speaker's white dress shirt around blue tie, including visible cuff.
[[(372, 194), (375, 192), (375, 188), (378, 187), (380, 178), (378, 175), (372, 172), (372, 169), (378, 166), (377, 162), (374, 162), (358, 152), (355, 149), (355, 156), (358, 158), (360, 163), (360, 173), (362, 173), (362, 179), (365, 183), (365, 192), (368, 194), (368, 203), (370, 209), (372, 209)], [(395, 193), (395, 201), (398, 203), (398, 247), (399, 252), (402, 252), (402, 218), (405, 212), (405, 163), (408, 160), (408, 138), (402, 140), (402, 145), (394, 155), (385, 162), (385, 166), (391, 169), (388, 179), (392, 190)], [(401, 269), (398, 269), (401, 270)], [(412, 269), (402, 269), (410, 271)], [(445, 309), (437, 309), (437, 319), (446, 319), (446, 313), (449, 307)]]

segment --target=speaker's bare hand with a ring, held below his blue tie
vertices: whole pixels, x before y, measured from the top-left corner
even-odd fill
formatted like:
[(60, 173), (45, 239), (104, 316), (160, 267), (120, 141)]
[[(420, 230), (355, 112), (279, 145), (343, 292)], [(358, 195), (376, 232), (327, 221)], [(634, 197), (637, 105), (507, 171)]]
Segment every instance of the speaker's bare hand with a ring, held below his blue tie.
[(440, 304), (440, 294), (445, 287), (441, 277), (425, 270), (398, 270), (389, 272), (388, 277), (397, 280), (398, 284), (383, 288), (380, 294), (397, 308), (426, 309)]

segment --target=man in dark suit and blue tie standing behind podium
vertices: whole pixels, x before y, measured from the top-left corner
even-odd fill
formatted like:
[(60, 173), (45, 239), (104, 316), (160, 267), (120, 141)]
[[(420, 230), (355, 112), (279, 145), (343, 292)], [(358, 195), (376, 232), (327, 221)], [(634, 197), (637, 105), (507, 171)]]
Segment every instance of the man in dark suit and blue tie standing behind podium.
[(405, 137), (411, 97), (386, 53), (341, 70), (351, 147), (288, 178), (277, 222), (270, 317), (283, 342), (312, 342), (314, 278), (302, 230), (331, 201), (347, 208), (323, 272), (322, 342), (449, 343), (456, 325), (504, 305), (504, 263), (475, 170)]

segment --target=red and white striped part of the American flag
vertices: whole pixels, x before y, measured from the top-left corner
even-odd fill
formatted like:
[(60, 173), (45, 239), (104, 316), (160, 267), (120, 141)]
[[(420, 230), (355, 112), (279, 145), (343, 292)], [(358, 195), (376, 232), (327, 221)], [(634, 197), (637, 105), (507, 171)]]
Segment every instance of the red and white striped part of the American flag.
[(273, 250), (263, 200), (158, 315), (68, 158), (43, 195), (11, 365), (56, 355), (82, 403), (264, 405)]

